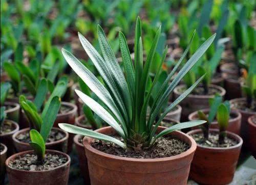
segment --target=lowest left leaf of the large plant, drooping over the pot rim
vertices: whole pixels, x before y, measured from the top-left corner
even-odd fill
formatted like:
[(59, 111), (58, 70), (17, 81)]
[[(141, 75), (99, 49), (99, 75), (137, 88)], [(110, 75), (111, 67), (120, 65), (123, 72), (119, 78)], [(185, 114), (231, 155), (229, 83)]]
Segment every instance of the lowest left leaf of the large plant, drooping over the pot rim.
[(126, 146), (123, 142), (121, 142), (113, 137), (97, 133), (96, 131), (89, 130), (87, 128), (81, 128), (81, 127), (71, 125), (71, 124), (66, 124), (66, 123), (59, 123), (58, 125), (61, 129), (68, 131), (69, 133), (80, 134), (82, 136), (87, 136), (87, 137), (98, 139), (98, 140), (108, 141), (111, 143), (115, 143), (122, 148), (126, 148)]

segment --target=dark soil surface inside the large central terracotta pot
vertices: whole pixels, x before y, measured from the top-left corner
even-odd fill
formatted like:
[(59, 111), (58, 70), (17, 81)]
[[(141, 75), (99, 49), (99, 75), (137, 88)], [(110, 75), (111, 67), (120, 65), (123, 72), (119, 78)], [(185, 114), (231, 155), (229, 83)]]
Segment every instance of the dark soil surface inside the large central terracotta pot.
[[(120, 137), (115, 137), (120, 139)], [(124, 150), (120, 146), (96, 140), (92, 147), (104, 153), (129, 158), (164, 158), (178, 155), (189, 149), (189, 145), (177, 138), (161, 137), (157, 139), (154, 146), (141, 151)]]

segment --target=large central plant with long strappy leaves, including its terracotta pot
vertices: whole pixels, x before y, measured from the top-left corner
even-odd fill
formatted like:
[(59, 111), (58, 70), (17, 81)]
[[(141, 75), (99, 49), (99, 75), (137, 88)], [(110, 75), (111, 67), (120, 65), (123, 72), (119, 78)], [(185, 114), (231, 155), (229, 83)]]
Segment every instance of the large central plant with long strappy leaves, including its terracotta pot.
[[(168, 85), (170, 78), (176, 72), (179, 64), (187, 54), (188, 48), (186, 49), (179, 63), (167, 76), (159, 90), (158, 98), (153, 104), (151, 113), (149, 117), (146, 118), (151, 91), (159, 77), (158, 70), (152, 88), (146, 93), (146, 84), (149, 77), (148, 71), (153, 62), (160, 31), (161, 29), (157, 31), (151, 51), (148, 53), (144, 65), (142, 61), (143, 53), (140, 18), (138, 18), (136, 22), (134, 65), (131, 60), (125, 37), (121, 32), (119, 33), (120, 48), (126, 78), (99, 25), (98, 38), (104, 59), (86, 38), (81, 34), (78, 34), (84, 49), (99, 71), (106, 87), (103, 86), (70, 52), (62, 49), (63, 56), (69, 65), (106, 106), (106, 109), (103, 108), (95, 100), (76, 90), (76, 93), (83, 102), (108, 123), (110, 127), (103, 127), (93, 131), (66, 123), (59, 124), (62, 129), (67, 130), (70, 133), (87, 136), (83, 139), (83, 145), (86, 149), (92, 184), (106, 184), (108, 182), (112, 182), (113, 184), (169, 184), (170, 182), (186, 184), (187, 182), (189, 165), (196, 149), (194, 147), (195, 142), (190, 137), (176, 130), (203, 124), (205, 121), (197, 120), (184, 122), (169, 128), (161, 127), (159, 125), (166, 114), (187, 96), (199, 84), (204, 76), (200, 77), (193, 86), (187, 89), (179, 98), (170, 104), (159, 118), (157, 118), (157, 116), (160, 113), (162, 105), (169, 98), (168, 96), (172, 93), (175, 86), (178, 85), (182, 77), (184, 77), (187, 71), (189, 71), (189, 69), (203, 55), (205, 50), (214, 40), (215, 35), (211, 36), (202, 44), (193, 57), (191, 57), (179, 71), (174, 81)], [(163, 58), (164, 57), (165, 56), (163, 56)], [(148, 152), (154, 153), (154, 151), (156, 151), (155, 147), (160, 147), (158, 143), (161, 143), (161, 140), (169, 139), (169, 137), (174, 137), (177, 141), (185, 144), (188, 150), (184, 150), (182, 147), (182, 151), (176, 153), (176, 156), (173, 156), (175, 155), (175, 153), (173, 153), (174, 148), (167, 149), (170, 152), (168, 155), (163, 155), (161, 153), (148, 155)], [(172, 140), (168, 139), (167, 141)], [(106, 145), (109, 146), (109, 151), (118, 149), (116, 150), (117, 153), (106, 153), (107, 151), (104, 150)], [(179, 145), (179, 147), (181, 145)], [(126, 166), (126, 168), (124, 169), (123, 166)], [(170, 168), (170, 166), (173, 166), (174, 168)], [(165, 174), (164, 176), (163, 173)], [(119, 178), (116, 178), (117, 176)], [(141, 178), (142, 176), (143, 178)]]

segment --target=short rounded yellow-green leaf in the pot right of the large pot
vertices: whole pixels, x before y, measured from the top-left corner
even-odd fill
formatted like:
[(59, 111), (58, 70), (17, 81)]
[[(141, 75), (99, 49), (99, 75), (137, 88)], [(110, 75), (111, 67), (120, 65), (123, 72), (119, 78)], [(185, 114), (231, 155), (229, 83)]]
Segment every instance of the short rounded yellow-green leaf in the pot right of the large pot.
[(217, 112), (217, 122), (220, 128), (226, 129), (229, 121), (229, 111), (224, 103), (220, 104)]

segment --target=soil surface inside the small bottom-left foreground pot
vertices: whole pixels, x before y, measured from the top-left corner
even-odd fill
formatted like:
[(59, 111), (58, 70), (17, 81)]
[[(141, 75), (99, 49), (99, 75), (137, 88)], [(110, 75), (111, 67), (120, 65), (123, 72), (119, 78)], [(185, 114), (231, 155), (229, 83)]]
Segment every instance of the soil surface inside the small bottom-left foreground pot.
[(9, 166), (19, 170), (46, 171), (65, 164), (67, 161), (68, 158), (64, 155), (46, 153), (44, 162), (38, 164), (35, 154), (25, 154), (10, 161)]

